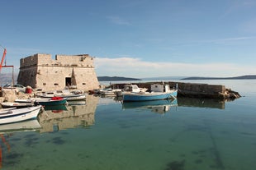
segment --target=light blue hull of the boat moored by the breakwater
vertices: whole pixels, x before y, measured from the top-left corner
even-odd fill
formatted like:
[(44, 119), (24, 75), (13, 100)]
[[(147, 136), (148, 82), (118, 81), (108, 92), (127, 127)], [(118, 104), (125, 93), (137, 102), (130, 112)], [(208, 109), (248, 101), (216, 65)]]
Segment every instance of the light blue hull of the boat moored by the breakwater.
[(175, 99), (177, 97), (177, 90), (164, 93), (125, 93), (123, 94), (123, 101), (149, 101), (149, 100), (160, 100), (160, 99)]

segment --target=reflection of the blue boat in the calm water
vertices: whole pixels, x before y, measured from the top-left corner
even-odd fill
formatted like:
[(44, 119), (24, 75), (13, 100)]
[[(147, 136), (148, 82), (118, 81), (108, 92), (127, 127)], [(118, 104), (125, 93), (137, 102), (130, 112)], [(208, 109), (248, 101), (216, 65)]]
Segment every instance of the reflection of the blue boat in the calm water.
[(173, 99), (173, 100), (164, 99), (164, 100), (122, 103), (122, 108), (123, 109), (149, 108), (149, 109), (151, 109), (151, 112), (154, 112), (154, 113), (166, 113), (173, 106), (178, 106), (178, 100), (177, 99)]

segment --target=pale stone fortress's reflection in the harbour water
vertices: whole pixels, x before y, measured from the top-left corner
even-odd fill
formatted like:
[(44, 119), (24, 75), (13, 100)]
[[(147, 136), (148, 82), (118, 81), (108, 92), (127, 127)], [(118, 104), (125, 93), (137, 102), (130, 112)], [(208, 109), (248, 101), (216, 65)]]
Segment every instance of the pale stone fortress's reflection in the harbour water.
[(85, 105), (69, 105), (67, 110), (53, 113), (46, 110), (39, 115), (40, 132), (59, 131), (77, 126), (91, 126), (99, 98), (88, 95)]

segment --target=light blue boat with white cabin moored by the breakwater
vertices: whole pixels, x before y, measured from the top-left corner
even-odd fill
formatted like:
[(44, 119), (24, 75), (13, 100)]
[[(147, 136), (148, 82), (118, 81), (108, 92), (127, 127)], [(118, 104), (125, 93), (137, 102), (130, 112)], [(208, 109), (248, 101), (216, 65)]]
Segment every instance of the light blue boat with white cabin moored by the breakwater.
[(151, 85), (151, 91), (139, 93), (123, 93), (123, 102), (128, 101), (149, 101), (159, 99), (176, 99), (178, 89), (170, 90), (169, 85)]

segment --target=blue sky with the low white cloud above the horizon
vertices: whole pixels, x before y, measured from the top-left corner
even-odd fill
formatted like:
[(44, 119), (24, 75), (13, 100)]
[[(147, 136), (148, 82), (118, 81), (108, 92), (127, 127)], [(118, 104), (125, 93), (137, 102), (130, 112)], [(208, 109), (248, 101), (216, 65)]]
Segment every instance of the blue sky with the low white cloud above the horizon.
[(0, 18), (17, 71), (35, 53), (88, 53), (97, 76), (256, 74), (254, 0), (1, 0)]

